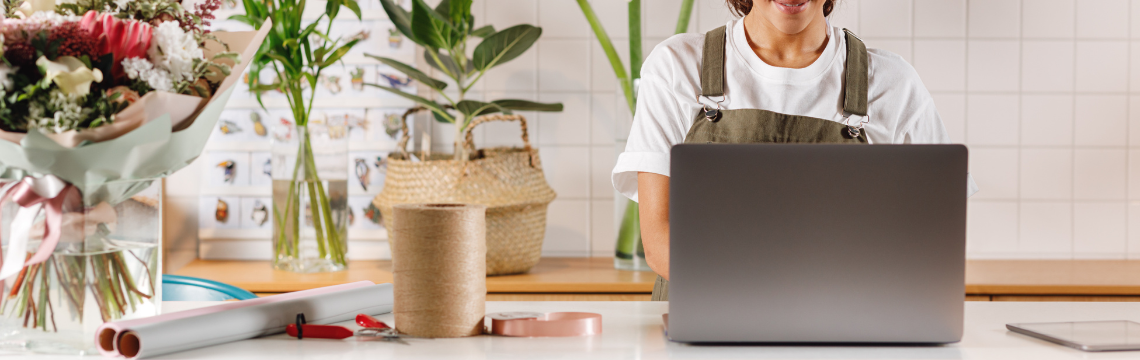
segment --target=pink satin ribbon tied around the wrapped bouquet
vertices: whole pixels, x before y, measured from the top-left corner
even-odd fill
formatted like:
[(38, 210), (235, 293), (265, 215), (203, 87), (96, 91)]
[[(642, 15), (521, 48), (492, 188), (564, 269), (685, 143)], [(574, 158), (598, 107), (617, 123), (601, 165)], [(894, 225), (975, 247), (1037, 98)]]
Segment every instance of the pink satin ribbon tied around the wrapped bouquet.
[[(21, 207), (43, 204), (43, 210), (46, 212), (43, 242), (41, 242), (40, 247), (35, 249), (35, 254), (24, 261), (25, 267), (43, 262), (44, 260), (48, 260), (48, 256), (51, 256), (51, 253), (55, 252), (56, 244), (59, 243), (60, 232), (63, 232), (62, 224), (64, 202), (67, 199), (68, 195), (79, 193), (79, 189), (71, 183), (66, 183), (55, 177), (49, 175), (49, 178), (36, 180), (32, 177), (25, 177), (23, 180), (13, 185), (7, 191), (3, 191), (3, 194), (0, 195), (0, 205), (9, 198), (16, 202), (16, 204)], [(38, 186), (36, 181), (43, 181), (43, 183), (39, 183)], [(63, 185), (62, 189), (58, 189), (59, 185)], [(36, 190), (49, 194), (40, 194)], [(2, 212), (2, 210), (0, 210), (0, 212)], [(2, 259), (3, 254), (2, 251), (0, 251), (0, 264), (3, 263)], [(2, 280), (3, 279), (0, 279), (0, 281)]]

